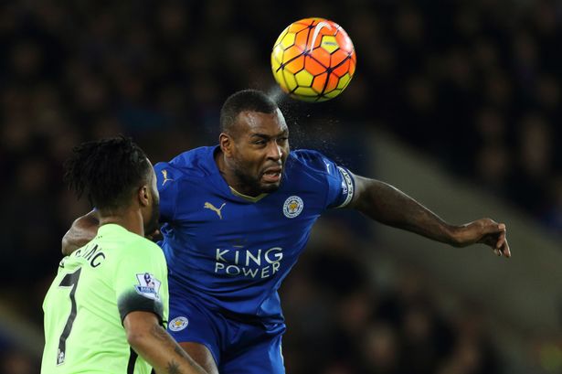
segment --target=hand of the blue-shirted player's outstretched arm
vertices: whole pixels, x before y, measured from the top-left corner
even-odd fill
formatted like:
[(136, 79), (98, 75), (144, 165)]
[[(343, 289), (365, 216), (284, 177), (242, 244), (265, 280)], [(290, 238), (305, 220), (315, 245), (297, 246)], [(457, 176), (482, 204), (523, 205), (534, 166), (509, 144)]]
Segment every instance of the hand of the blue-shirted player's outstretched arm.
[(493, 253), (498, 256), (511, 257), (504, 223), (497, 223), (493, 219), (478, 219), (462, 225), (453, 235), (458, 247), (482, 243), (492, 247)]

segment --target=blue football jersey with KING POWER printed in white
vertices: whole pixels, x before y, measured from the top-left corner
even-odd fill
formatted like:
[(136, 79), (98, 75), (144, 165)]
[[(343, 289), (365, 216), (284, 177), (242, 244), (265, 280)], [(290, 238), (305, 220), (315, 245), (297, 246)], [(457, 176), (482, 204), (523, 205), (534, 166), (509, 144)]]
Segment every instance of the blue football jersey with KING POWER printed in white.
[(215, 310), (281, 322), (281, 282), (322, 212), (351, 201), (353, 178), (322, 154), (298, 150), (277, 191), (243, 197), (220, 175), (216, 151), (196, 148), (154, 166), (170, 283)]

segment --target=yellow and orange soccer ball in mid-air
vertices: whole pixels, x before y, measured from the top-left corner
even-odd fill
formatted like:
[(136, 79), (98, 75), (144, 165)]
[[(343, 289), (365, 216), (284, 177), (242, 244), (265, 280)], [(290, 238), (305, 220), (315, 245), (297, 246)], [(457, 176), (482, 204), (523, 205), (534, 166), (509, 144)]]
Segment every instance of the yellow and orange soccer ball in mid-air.
[(281, 89), (305, 102), (325, 102), (345, 90), (355, 73), (355, 48), (345, 30), (323, 18), (285, 28), (271, 52)]

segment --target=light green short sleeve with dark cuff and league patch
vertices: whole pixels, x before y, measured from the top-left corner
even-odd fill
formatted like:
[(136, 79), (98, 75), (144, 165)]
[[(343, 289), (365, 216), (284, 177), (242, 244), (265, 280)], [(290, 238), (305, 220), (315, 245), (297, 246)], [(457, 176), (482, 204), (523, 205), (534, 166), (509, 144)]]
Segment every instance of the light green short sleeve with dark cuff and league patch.
[(161, 324), (167, 320), (167, 268), (162, 250), (150, 240), (137, 240), (123, 249), (115, 270), (115, 293), (121, 320), (131, 312), (154, 313)]

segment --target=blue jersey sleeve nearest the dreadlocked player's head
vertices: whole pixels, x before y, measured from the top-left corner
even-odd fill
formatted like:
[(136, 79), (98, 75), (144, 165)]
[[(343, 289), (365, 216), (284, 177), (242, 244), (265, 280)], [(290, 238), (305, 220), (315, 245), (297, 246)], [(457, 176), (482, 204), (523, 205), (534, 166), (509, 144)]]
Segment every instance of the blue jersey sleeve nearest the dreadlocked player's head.
[(171, 222), (175, 219), (180, 172), (168, 163), (158, 163), (154, 165), (154, 173), (160, 193), (160, 221)]

